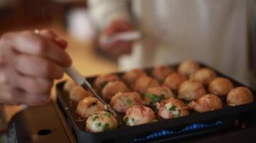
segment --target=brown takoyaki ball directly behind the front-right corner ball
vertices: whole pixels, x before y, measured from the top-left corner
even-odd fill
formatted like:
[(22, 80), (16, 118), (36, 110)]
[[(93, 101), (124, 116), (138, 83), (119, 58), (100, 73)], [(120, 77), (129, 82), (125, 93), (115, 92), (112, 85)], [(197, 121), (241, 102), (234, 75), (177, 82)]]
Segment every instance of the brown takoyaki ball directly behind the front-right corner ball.
[(227, 95), (234, 88), (232, 82), (224, 77), (217, 77), (209, 84), (209, 92), (216, 95)]

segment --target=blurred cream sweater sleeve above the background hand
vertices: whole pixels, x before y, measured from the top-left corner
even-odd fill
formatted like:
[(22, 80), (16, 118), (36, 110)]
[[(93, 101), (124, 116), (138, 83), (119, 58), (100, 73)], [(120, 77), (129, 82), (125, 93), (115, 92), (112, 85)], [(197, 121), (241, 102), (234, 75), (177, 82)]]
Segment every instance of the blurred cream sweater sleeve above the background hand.
[(88, 0), (94, 24), (104, 29), (114, 19), (129, 21), (127, 0)]

